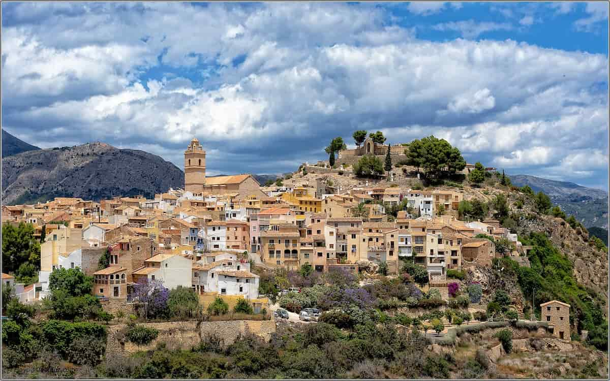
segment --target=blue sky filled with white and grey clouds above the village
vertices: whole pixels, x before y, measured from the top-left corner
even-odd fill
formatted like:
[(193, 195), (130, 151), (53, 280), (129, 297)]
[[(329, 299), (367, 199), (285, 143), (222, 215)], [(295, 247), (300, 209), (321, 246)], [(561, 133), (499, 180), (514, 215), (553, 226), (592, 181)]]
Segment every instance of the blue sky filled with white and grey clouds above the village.
[(341, 136), (608, 189), (606, 2), (2, 4), (2, 127), (283, 173)]

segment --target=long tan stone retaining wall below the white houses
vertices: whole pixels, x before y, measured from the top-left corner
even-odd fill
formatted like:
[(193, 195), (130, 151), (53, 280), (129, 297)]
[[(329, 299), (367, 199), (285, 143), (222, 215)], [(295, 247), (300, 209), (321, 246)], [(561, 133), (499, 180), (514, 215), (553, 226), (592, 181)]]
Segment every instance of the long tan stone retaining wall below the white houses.
[(270, 340), (271, 333), (275, 332), (276, 326), (273, 320), (249, 321), (172, 321), (145, 323), (142, 326), (159, 330), (159, 336), (151, 343), (137, 346), (125, 341), (121, 343), (120, 331), (126, 327), (125, 324), (109, 327), (106, 351), (133, 353), (154, 349), (157, 343), (165, 343), (168, 349), (191, 349), (198, 346), (202, 338), (211, 333), (217, 333), (224, 339), (224, 344), (233, 343), (240, 334), (254, 333), (265, 341)]

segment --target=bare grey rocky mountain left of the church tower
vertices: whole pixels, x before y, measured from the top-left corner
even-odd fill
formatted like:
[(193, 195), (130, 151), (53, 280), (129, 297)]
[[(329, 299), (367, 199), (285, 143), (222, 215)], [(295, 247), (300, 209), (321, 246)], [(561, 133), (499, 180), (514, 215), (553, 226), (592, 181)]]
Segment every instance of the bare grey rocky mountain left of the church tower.
[[(3, 142), (4, 144), (4, 142)], [(2, 203), (58, 196), (99, 200), (183, 187), (184, 173), (161, 157), (105, 143), (40, 149), (2, 158)]]

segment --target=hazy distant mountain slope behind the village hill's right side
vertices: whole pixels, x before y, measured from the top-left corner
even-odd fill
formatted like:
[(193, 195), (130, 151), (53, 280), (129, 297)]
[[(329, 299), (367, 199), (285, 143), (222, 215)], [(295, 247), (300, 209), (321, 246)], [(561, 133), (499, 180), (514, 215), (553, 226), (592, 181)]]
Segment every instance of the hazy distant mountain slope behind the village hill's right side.
[(510, 177), (517, 187), (529, 185), (535, 192), (543, 191), (548, 194), (553, 204), (561, 206), (566, 214), (574, 215), (585, 227), (598, 226), (608, 229), (608, 192), (535, 176)]

